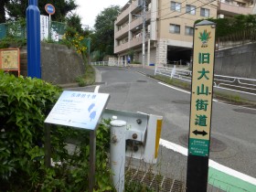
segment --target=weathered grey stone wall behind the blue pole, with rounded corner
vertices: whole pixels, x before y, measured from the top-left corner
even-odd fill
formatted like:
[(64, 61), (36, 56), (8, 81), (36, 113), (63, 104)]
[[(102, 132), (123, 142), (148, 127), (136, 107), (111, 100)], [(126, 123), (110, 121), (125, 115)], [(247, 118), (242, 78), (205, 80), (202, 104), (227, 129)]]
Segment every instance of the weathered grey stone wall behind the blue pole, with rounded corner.
[[(20, 51), (21, 75), (27, 76), (27, 48)], [(83, 59), (75, 50), (66, 46), (41, 43), (42, 80), (53, 84), (65, 84), (85, 73)]]

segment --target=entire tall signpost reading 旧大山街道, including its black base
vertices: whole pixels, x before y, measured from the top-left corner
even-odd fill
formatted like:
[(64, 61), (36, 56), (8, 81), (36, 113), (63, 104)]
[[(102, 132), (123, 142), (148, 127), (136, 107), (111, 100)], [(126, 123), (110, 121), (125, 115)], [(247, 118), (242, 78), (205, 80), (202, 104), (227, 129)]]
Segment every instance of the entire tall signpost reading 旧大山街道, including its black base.
[(213, 96), (216, 24), (195, 25), (187, 157), (187, 192), (206, 192)]

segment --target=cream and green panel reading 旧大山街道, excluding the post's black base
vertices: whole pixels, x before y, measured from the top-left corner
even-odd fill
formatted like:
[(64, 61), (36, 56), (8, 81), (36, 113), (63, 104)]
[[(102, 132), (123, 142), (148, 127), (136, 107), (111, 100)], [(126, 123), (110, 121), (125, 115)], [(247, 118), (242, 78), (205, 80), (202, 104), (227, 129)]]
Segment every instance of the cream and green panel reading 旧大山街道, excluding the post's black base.
[(215, 23), (195, 25), (188, 155), (209, 155)]

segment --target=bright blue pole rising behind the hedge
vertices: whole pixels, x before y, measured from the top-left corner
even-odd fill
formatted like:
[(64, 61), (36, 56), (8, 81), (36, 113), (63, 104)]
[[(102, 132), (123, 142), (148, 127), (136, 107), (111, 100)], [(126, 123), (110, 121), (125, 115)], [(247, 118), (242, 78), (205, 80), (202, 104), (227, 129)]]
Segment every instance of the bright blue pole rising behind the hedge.
[(29, 0), (27, 16), (27, 76), (41, 79), (40, 12), (37, 0)]

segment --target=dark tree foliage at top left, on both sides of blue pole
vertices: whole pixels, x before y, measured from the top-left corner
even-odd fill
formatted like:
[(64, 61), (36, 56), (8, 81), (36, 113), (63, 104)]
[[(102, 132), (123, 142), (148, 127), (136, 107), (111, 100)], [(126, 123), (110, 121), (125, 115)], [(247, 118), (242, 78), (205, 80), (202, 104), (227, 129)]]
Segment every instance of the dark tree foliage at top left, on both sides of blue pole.
[[(19, 17), (26, 17), (28, 0), (6, 1), (6, 11), (11, 20), (16, 20)], [(67, 16), (70, 11), (78, 7), (74, 0), (39, 0), (38, 8), (41, 15), (48, 15), (48, 13), (45, 11), (45, 5), (47, 4), (52, 4), (55, 6), (55, 14), (52, 15), (52, 19), (56, 21), (64, 21), (65, 16)]]

